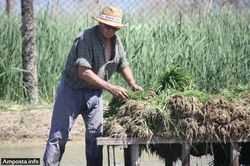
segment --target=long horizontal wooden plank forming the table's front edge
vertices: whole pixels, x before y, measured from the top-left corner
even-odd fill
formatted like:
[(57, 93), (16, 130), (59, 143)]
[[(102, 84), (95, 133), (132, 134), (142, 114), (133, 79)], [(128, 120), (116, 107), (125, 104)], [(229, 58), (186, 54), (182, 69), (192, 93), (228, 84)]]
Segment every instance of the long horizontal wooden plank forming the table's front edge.
[[(193, 140), (191, 143), (225, 143), (225, 142), (235, 142), (235, 143), (244, 143), (250, 142), (250, 138), (241, 138), (241, 139), (228, 139), (225, 141), (218, 141), (212, 139), (197, 139)], [(133, 145), (133, 144), (173, 144), (173, 143), (190, 143), (187, 140), (181, 138), (162, 138), (162, 137), (153, 137), (150, 140), (141, 139), (141, 138), (110, 138), (110, 137), (99, 137), (97, 138), (97, 145)]]

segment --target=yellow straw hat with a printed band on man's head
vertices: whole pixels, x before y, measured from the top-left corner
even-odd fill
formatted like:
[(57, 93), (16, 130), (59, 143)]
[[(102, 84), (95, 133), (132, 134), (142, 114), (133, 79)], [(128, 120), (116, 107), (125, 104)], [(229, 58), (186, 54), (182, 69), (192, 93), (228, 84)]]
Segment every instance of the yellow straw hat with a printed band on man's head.
[(99, 16), (94, 17), (99, 23), (107, 24), (115, 28), (123, 28), (122, 10), (114, 6), (106, 6), (102, 9)]

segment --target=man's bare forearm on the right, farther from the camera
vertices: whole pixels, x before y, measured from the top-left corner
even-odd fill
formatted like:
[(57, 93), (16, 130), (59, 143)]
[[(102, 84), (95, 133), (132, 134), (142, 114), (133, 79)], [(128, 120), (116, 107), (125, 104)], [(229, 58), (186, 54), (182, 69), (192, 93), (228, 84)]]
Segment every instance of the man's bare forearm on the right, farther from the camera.
[(121, 69), (121, 75), (133, 91), (143, 90), (143, 88), (136, 83), (132, 70), (128, 65)]

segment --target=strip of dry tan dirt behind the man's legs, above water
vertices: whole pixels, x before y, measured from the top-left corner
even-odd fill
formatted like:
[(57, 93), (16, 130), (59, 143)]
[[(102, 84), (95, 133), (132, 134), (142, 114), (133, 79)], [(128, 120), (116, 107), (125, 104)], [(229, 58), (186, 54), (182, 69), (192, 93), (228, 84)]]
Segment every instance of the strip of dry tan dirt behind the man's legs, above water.
[[(46, 141), (50, 129), (52, 105), (0, 103), (0, 142)], [(84, 123), (79, 116), (70, 132), (72, 141), (83, 140)]]

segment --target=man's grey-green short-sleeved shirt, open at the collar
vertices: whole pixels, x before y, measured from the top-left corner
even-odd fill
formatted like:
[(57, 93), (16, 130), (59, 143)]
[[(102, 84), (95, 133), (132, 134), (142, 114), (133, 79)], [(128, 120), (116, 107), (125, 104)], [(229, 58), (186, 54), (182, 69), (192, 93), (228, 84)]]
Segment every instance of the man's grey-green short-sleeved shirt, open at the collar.
[(78, 65), (91, 68), (100, 78), (109, 80), (115, 71), (128, 65), (120, 38), (112, 38), (111, 60), (106, 61), (104, 39), (99, 26), (82, 32), (73, 43), (62, 73), (65, 82), (74, 89), (92, 88), (78, 77)]

